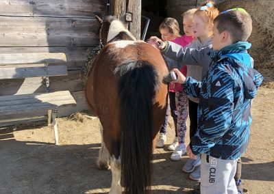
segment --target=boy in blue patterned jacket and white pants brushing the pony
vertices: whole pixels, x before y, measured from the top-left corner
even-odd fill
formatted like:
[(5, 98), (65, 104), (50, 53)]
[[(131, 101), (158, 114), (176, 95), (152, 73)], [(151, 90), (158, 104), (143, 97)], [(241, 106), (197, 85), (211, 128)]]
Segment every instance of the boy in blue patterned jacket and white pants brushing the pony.
[[(198, 130), (187, 153), (201, 154), (201, 193), (238, 193), (236, 163), (245, 152), (251, 126), (251, 99), (256, 96), (262, 75), (252, 68), (247, 41), (252, 31), (245, 10), (227, 10), (214, 20), (213, 63), (201, 82), (174, 69), (184, 92), (199, 97)], [(166, 46), (165, 44), (163, 47)]]

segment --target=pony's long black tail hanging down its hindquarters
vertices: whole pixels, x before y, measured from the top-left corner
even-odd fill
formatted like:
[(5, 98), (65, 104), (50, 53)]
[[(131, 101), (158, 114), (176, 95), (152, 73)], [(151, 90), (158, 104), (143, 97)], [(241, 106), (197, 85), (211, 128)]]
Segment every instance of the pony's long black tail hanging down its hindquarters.
[(129, 61), (119, 74), (121, 179), (126, 193), (150, 193), (153, 116), (158, 74), (145, 61)]

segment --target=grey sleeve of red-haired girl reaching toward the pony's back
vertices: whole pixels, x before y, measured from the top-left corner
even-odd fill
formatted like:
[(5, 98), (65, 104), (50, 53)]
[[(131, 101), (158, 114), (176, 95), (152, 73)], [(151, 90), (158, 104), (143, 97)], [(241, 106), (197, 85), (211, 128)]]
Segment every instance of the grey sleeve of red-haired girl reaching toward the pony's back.
[(212, 51), (212, 45), (208, 45), (200, 50), (195, 48), (182, 47), (174, 42), (166, 42), (166, 46), (162, 50), (162, 53), (178, 61), (177, 68), (180, 69), (182, 66), (203, 66), (210, 64), (212, 59), (208, 56), (208, 53)]

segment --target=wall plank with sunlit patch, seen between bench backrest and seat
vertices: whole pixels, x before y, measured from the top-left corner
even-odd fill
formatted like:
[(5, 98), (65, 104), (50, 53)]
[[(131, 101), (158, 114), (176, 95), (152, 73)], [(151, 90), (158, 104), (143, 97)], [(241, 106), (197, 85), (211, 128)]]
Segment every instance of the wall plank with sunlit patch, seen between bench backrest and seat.
[[(70, 90), (72, 92), (83, 90), (85, 82), (79, 78), (79, 73), (79, 70), (69, 70), (67, 76), (49, 77), (50, 91)], [(45, 79), (41, 77), (0, 80), (0, 96), (42, 93), (45, 91)]]

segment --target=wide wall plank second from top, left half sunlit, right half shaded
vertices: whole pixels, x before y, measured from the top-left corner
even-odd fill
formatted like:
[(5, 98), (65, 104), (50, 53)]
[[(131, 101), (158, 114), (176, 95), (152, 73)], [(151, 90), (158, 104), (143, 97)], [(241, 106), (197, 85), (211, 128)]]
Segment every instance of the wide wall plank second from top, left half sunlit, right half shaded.
[(0, 16), (0, 46), (94, 46), (99, 23), (93, 18)]

